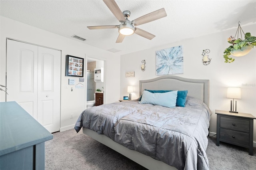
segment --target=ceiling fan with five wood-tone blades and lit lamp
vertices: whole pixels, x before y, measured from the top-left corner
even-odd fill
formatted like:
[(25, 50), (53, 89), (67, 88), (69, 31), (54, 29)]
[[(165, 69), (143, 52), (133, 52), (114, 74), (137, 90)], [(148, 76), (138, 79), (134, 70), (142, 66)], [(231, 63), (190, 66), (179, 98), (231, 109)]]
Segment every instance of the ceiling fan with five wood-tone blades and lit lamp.
[(152, 38), (154, 38), (155, 35), (150, 34), (149, 32), (146, 32), (144, 30), (141, 30), (136, 26), (146, 24), (148, 22), (152, 22), (154, 20), (158, 20), (160, 18), (167, 16), (164, 8), (162, 8), (160, 10), (156, 10), (154, 12), (141, 16), (133, 21), (130, 21), (128, 20), (131, 14), (130, 11), (126, 10), (124, 12), (121, 12), (120, 8), (114, 0), (103, 1), (108, 6), (110, 11), (114, 14), (114, 16), (118, 19), (118, 21), (121, 22), (121, 24), (116, 26), (88, 26), (87, 28), (89, 28), (90, 30), (118, 28), (119, 36), (116, 40), (116, 43), (121, 43), (124, 40), (125, 36), (130, 36), (134, 33), (149, 40), (152, 40)]

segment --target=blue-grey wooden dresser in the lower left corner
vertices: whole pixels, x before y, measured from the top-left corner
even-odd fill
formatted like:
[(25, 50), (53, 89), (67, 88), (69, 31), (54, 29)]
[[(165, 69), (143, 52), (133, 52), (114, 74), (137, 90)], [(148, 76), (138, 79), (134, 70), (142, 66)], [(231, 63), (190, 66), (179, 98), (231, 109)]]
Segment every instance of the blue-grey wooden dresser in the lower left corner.
[(52, 138), (18, 103), (0, 103), (0, 170), (44, 170), (44, 142)]

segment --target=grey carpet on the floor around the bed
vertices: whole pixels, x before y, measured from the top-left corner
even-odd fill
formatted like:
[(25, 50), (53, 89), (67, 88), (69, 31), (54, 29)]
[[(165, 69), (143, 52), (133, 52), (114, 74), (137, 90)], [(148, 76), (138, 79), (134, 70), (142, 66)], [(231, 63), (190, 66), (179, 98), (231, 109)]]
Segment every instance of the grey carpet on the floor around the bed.
[[(45, 170), (146, 170), (146, 168), (74, 129), (53, 133), (45, 142)], [(206, 150), (210, 170), (255, 170), (248, 149), (209, 138)]]

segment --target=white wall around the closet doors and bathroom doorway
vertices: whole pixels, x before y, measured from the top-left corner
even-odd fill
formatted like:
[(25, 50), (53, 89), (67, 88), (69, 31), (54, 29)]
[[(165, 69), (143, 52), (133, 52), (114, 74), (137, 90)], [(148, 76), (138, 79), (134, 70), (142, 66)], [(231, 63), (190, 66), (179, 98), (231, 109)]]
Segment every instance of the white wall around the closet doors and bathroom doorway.
[[(79, 40), (71, 40), (57, 34), (53, 34), (14, 20), (2, 17), (0, 18), (0, 84), (5, 85), (6, 71), (6, 37), (34, 43), (55, 49), (62, 50), (61, 60), (61, 120), (60, 130), (68, 130), (74, 128), (74, 124), (80, 113), (86, 107), (86, 86), (84, 89), (76, 89), (74, 85), (68, 85), (68, 79), (75, 79), (78, 83), (78, 77), (65, 76), (65, 59), (66, 55), (86, 58), (92, 57), (105, 61), (105, 103), (112, 103), (119, 100), (120, 97), (120, 56), (112, 52), (98, 49), (86, 45)], [(71, 35), (72, 36), (72, 35)], [(86, 68), (84, 68), (84, 78), (86, 80)], [(118, 71), (117, 71), (118, 70)], [(86, 81), (85, 81), (86, 82)], [(85, 83), (84, 82), (84, 83)], [(67, 87), (67, 88), (65, 88)], [(73, 87), (73, 92), (71, 92)], [(5, 101), (4, 92), (0, 91), (0, 101)], [(74, 114), (74, 118), (70, 119), (70, 114)]]

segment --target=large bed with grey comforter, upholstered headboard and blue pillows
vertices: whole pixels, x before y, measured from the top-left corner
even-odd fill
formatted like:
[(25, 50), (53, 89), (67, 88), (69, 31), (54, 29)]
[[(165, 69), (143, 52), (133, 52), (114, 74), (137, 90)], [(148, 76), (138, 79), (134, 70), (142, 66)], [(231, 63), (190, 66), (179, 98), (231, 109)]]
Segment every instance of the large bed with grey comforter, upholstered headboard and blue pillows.
[[(184, 91), (184, 106), (162, 106), (170, 95), (176, 95), (178, 103), (178, 92)], [(148, 169), (209, 169), (209, 80), (166, 75), (139, 81), (139, 94), (134, 101), (86, 109), (76, 131), (82, 128), (84, 134)], [(151, 96), (164, 100), (159, 105), (143, 103)]]

